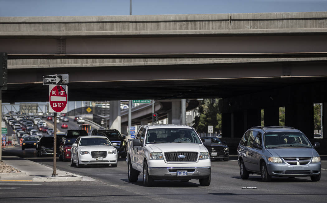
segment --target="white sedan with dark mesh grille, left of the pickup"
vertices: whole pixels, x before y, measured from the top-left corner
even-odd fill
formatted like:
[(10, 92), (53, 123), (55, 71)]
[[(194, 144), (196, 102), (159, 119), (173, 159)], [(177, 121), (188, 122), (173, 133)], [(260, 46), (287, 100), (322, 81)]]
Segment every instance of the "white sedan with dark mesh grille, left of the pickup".
[(80, 136), (71, 148), (70, 165), (81, 168), (85, 164), (111, 164), (117, 167), (116, 145), (105, 136)]

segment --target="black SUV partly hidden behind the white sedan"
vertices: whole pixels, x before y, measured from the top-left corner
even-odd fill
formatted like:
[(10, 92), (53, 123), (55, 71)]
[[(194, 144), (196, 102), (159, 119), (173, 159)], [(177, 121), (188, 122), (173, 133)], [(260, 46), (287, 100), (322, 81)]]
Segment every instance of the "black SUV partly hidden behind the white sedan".
[(111, 143), (117, 143), (115, 148), (117, 149), (118, 156), (126, 158), (126, 141), (125, 136), (122, 136), (116, 129), (106, 130), (92, 130), (91, 135), (106, 136)]

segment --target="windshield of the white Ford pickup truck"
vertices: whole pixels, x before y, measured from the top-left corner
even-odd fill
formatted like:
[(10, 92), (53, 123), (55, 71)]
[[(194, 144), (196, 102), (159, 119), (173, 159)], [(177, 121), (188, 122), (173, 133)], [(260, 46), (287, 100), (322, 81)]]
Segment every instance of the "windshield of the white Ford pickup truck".
[(201, 143), (193, 129), (185, 128), (160, 128), (149, 129), (146, 143)]

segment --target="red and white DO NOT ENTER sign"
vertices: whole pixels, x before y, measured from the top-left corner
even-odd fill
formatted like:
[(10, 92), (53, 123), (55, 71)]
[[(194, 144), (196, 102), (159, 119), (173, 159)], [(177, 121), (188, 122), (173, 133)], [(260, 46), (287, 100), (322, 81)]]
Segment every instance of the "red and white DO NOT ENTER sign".
[(67, 113), (67, 85), (49, 85), (49, 112)]

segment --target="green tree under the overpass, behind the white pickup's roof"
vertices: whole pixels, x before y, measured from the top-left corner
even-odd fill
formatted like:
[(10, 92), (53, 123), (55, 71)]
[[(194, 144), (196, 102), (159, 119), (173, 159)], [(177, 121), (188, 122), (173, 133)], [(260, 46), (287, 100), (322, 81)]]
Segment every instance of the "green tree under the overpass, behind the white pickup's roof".
[(204, 99), (198, 107), (198, 114), (193, 121), (193, 127), (199, 133), (208, 131), (208, 125), (214, 126), (214, 132), (221, 131), (221, 113), (218, 108), (218, 100), (213, 103), (211, 99)]

